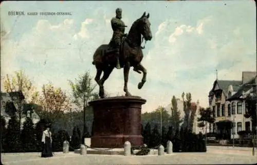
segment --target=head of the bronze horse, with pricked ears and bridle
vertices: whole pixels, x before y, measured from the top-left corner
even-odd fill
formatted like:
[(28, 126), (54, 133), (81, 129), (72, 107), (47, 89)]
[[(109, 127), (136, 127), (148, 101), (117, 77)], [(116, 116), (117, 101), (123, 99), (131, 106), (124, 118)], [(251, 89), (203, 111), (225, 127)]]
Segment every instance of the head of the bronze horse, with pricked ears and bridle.
[(138, 19), (138, 30), (143, 35), (145, 40), (151, 40), (152, 39), (152, 31), (151, 31), (151, 23), (149, 22), (149, 13), (148, 15), (145, 15), (145, 12), (143, 15)]

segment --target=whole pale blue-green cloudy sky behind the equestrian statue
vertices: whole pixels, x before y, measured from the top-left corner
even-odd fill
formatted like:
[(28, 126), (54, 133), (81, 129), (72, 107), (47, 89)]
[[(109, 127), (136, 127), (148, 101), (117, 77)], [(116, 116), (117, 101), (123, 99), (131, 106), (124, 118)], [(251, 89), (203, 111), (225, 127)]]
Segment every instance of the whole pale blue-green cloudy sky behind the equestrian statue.
[[(93, 54), (112, 37), (110, 20), (122, 8), (127, 33), (143, 12), (150, 13), (153, 38), (143, 49), (146, 83), (131, 69), (128, 90), (146, 99), (142, 112), (166, 107), (173, 95), (190, 92), (192, 101), (208, 106), (216, 79), (241, 80), (256, 71), (254, 1), (28, 1), (1, 3), (1, 82), (24, 70), (39, 91), (53, 83), (68, 94), (68, 80), (86, 71), (94, 78)], [(9, 16), (8, 11), (71, 12), (65, 16)], [(104, 87), (124, 95), (123, 70), (115, 69)], [(96, 88), (98, 90), (98, 87)]]

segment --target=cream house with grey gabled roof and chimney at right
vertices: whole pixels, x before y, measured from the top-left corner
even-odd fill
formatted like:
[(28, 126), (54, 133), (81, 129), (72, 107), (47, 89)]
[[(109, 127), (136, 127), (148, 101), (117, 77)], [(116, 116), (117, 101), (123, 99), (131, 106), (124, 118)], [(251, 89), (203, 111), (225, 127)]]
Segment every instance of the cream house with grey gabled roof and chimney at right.
[(244, 117), (246, 105), (244, 97), (255, 84), (256, 72), (243, 72), (242, 80), (215, 80), (209, 92), (209, 106), (215, 122), (208, 124), (210, 132), (220, 139), (239, 138), (237, 132), (251, 130), (252, 123)]

